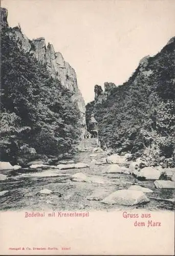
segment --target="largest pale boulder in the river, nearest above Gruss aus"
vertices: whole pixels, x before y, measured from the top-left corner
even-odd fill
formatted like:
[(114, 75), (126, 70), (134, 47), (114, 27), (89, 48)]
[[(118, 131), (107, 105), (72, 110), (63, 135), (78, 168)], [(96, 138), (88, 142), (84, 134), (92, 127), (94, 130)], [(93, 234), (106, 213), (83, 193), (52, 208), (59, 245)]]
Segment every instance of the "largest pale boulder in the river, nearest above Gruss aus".
[(113, 192), (101, 202), (105, 204), (122, 204), (132, 206), (147, 203), (149, 202), (149, 199), (142, 191), (122, 189)]

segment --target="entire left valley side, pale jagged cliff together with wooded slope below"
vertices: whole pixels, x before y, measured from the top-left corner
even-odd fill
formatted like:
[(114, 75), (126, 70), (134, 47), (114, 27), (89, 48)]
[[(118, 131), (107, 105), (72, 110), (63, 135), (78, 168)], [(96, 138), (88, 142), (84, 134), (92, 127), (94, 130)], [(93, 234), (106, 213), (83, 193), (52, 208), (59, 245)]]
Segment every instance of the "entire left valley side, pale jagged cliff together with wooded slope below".
[(7, 10), (1, 18), (1, 159), (61, 159), (86, 127), (75, 71), (44, 38), (8, 27)]

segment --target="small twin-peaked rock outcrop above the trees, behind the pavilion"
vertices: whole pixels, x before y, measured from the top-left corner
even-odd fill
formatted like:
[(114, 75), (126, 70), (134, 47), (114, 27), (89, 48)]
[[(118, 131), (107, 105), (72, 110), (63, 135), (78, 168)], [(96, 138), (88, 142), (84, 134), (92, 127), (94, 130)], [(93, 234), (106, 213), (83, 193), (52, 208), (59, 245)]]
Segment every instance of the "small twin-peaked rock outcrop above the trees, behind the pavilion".
[(96, 84), (94, 88), (95, 92), (95, 103), (102, 103), (102, 101), (107, 100), (107, 98), (113, 93), (113, 90), (116, 88), (115, 83), (105, 82), (104, 83), (104, 92), (101, 86)]

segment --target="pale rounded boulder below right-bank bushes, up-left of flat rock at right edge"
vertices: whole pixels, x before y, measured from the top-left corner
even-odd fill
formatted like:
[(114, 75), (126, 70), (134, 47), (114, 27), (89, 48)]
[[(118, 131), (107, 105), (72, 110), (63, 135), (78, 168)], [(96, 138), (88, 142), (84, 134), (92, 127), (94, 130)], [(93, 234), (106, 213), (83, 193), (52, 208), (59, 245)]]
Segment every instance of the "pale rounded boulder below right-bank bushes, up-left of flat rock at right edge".
[(136, 171), (134, 172), (134, 175), (138, 179), (142, 180), (159, 180), (161, 176), (160, 170), (157, 170), (152, 167), (144, 167), (143, 169), (140, 170), (140, 172)]

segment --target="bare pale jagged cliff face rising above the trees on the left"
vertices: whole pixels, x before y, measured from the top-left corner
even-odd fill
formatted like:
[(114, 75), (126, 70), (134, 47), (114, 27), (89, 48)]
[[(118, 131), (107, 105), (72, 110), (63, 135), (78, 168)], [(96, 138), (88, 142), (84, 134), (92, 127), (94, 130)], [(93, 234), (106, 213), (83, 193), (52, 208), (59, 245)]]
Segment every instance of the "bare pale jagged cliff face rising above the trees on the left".
[[(8, 27), (7, 22), (8, 12), (5, 8), (1, 8), (1, 26), (2, 28)], [(86, 129), (85, 123), (85, 102), (78, 89), (77, 77), (75, 70), (66, 62), (60, 52), (55, 52), (53, 45), (50, 43), (46, 46), (44, 37), (30, 40), (22, 31), (19, 26), (8, 31), (9, 35), (15, 35), (18, 45), (26, 53), (30, 53), (47, 69), (53, 77), (56, 77), (64, 88), (67, 88), (72, 93), (72, 99), (77, 103), (78, 109), (81, 113), (81, 130), (82, 136)]]

